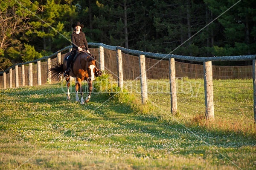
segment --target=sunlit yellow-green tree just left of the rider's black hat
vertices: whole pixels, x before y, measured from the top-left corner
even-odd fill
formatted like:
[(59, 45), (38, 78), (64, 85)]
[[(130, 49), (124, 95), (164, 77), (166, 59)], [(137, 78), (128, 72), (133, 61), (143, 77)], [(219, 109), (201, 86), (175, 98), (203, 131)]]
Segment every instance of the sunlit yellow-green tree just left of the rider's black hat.
[[(27, 32), (32, 38), (30, 43), (36, 44), (38, 51), (55, 52), (63, 46), (70, 45), (71, 23), (68, 18), (75, 18), (74, 6), (61, 1), (41, 0), (35, 1), (38, 13), (30, 20), (30, 25), (34, 27)], [(72, 9), (72, 7), (74, 9)]]

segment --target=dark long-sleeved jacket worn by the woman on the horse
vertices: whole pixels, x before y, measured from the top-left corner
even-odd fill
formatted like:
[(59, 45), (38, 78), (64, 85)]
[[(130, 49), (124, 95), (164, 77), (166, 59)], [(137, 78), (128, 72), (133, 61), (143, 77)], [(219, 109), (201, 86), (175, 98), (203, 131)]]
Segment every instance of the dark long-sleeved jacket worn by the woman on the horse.
[(71, 41), (72, 41), (72, 48), (77, 49), (78, 47), (81, 47), (83, 49), (88, 50), (88, 43), (85, 37), (84, 32), (81, 32), (79, 34), (76, 34), (76, 32), (73, 32), (71, 34)]

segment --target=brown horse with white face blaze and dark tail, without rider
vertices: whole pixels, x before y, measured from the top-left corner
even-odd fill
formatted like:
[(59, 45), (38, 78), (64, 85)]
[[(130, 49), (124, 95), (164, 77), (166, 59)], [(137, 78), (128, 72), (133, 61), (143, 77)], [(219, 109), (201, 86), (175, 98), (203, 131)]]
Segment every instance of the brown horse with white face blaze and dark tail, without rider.
[[(71, 52), (68, 52), (63, 58), (63, 64), (58, 61), (53, 65), (52, 68), (48, 70), (51, 72), (53, 78), (60, 80), (63, 73), (67, 67), (66, 58), (70, 55)], [(96, 66), (96, 57), (87, 52), (77, 52), (77, 55), (74, 57), (71, 68), (70, 68), (70, 76), (76, 77), (76, 101), (79, 101), (78, 89), (81, 94), (81, 104), (84, 104), (83, 98), (83, 88), (81, 82), (86, 80), (88, 83), (88, 95), (85, 98), (85, 102), (87, 103), (90, 100), (90, 95), (93, 89), (93, 81), (95, 77), (98, 77), (102, 74), (102, 72)], [(66, 78), (66, 86), (67, 86), (67, 100), (70, 100), (70, 76)]]

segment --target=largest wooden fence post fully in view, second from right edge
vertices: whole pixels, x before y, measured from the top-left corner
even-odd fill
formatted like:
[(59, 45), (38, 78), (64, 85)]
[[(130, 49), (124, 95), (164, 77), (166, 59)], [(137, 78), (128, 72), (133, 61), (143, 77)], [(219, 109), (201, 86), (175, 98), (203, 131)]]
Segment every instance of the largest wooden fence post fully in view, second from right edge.
[(206, 119), (214, 121), (212, 61), (204, 62), (204, 100)]

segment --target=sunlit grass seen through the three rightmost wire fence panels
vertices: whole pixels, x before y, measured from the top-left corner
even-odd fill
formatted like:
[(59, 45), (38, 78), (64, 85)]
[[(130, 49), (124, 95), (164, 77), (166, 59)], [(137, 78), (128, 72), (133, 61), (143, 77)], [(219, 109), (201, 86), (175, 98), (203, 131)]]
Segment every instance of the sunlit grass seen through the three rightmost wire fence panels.
[[(138, 83), (137, 83), (138, 84)], [(170, 111), (169, 80), (148, 80), (148, 101), (163, 112)], [(186, 124), (255, 134), (252, 80), (213, 80), (214, 123), (205, 121), (204, 80), (176, 79), (177, 112)], [(163, 116), (163, 114), (160, 114)]]

